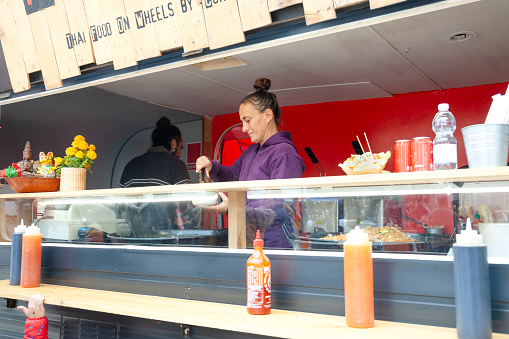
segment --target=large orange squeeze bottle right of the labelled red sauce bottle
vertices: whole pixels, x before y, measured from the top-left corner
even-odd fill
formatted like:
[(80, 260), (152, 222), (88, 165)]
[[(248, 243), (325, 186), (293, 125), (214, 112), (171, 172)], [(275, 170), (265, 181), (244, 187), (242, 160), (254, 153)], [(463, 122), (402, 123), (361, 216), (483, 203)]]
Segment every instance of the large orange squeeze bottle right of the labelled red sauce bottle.
[(359, 226), (347, 233), (343, 243), (345, 320), (349, 327), (375, 325), (372, 245)]

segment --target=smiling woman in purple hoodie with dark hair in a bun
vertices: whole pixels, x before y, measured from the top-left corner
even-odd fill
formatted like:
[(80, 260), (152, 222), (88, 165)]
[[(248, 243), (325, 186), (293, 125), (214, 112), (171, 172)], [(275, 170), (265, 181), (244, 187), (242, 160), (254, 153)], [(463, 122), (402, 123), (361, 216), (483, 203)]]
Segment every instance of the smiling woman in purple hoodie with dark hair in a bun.
[[(289, 132), (277, 129), (281, 109), (276, 95), (270, 93), (271, 82), (258, 78), (255, 92), (242, 99), (239, 108), (242, 131), (253, 143), (235, 163), (228, 167), (202, 156), (196, 160), (196, 172), (205, 169), (214, 181), (243, 181), (300, 178), (304, 173), (304, 162), (293, 145)], [(223, 202), (208, 207), (216, 213), (226, 213), (228, 198), (222, 194)], [(293, 232), (290, 208), (283, 200), (249, 200), (246, 206), (248, 244), (251, 231), (260, 229), (266, 247), (291, 247), (286, 235)], [(272, 221), (272, 222), (271, 222)], [(251, 227), (250, 225), (254, 226)], [(285, 227), (286, 229), (283, 229)]]

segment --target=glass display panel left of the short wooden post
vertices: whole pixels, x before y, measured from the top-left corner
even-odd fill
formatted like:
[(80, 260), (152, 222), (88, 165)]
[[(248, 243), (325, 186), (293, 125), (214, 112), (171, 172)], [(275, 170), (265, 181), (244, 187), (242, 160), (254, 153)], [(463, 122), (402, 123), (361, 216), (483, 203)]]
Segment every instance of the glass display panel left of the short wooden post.
[(36, 199), (34, 223), (45, 242), (227, 246), (196, 206), (216, 201), (210, 192)]

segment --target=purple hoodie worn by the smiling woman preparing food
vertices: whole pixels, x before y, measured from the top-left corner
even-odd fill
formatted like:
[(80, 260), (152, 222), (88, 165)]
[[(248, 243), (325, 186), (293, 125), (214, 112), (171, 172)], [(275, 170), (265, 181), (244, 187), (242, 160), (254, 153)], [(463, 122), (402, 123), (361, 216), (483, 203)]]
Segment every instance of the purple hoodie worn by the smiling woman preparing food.
[[(244, 181), (300, 178), (304, 161), (292, 143), (290, 132), (280, 131), (262, 146), (253, 144), (230, 166), (212, 161), (210, 177), (214, 181)], [(260, 229), (265, 247), (291, 247), (287, 234), (294, 233), (292, 216), (281, 199), (248, 200), (246, 202), (248, 246), (253, 232)]]

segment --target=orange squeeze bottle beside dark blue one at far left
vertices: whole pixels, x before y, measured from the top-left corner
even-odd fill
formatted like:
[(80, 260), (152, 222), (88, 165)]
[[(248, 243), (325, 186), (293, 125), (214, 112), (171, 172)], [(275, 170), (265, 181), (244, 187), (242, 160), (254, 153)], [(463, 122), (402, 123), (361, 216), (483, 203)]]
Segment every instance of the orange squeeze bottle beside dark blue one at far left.
[(33, 223), (23, 234), (21, 255), (21, 287), (38, 287), (41, 284), (42, 234)]

